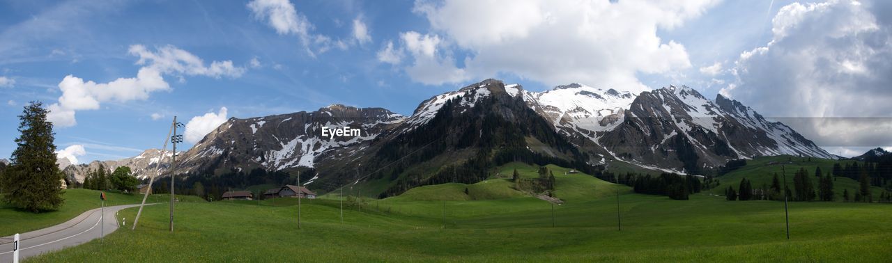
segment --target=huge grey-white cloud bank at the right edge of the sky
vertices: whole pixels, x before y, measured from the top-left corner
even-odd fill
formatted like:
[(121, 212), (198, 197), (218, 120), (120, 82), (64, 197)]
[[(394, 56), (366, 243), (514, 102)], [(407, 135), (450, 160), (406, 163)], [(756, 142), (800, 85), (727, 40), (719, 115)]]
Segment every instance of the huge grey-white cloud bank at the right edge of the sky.
[(892, 144), (892, 8), (888, 1), (789, 4), (772, 40), (740, 54), (721, 92), (771, 112), (816, 144)]

